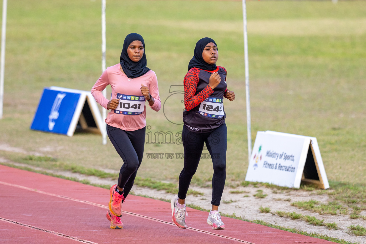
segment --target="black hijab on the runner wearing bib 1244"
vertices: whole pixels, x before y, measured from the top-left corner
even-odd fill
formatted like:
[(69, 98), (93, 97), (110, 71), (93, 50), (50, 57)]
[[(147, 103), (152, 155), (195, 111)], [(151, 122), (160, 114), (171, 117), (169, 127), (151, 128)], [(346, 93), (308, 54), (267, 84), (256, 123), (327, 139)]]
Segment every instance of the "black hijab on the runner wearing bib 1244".
[(216, 70), (216, 64), (206, 63), (206, 61), (203, 60), (202, 57), (202, 52), (205, 49), (205, 46), (207, 46), (207, 44), (209, 44), (210, 42), (213, 42), (216, 45), (216, 42), (209, 37), (198, 40), (198, 42), (196, 43), (196, 47), (194, 48), (193, 58), (191, 59), (191, 61), (189, 61), (188, 70), (193, 67), (200, 68), (202, 70)]

